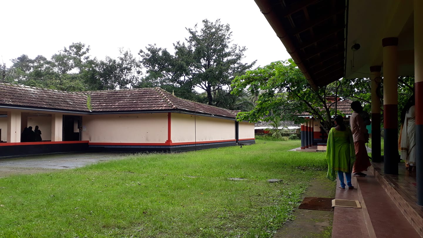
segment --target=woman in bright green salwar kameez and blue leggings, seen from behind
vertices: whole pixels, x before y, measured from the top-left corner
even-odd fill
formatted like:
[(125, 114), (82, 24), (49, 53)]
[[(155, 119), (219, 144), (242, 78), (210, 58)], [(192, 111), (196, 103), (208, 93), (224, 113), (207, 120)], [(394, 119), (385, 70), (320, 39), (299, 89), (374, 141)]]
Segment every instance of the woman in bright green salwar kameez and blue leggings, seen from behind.
[(335, 127), (332, 127), (327, 137), (327, 178), (335, 181), (335, 171), (341, 181), (340, 188), (345, 188), (343, 174), (345, 173), (348, 188), (354, 188), (351, 184), (352, 166), (355, 161), (354, 140), (351, 130), (343, 124), (342, 116), (335, 116)]

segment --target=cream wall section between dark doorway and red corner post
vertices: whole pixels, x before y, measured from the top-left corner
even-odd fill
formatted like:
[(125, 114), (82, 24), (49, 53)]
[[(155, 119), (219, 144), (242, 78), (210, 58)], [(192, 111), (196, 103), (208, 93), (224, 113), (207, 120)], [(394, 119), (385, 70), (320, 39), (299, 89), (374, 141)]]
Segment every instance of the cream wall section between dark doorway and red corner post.
[(165, 143), (168, 113), (82, 116), (82, 140), (105, 143)]

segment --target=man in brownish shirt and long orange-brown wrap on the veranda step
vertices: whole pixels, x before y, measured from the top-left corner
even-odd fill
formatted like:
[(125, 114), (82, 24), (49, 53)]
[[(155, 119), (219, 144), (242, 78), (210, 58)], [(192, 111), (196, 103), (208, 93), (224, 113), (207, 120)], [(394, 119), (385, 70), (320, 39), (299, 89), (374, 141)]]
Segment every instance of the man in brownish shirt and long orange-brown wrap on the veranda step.
[(363, 173), (363, 171), (367, 171), (368, 166), (371, 164), (365, 146), (365, 142), (367, 141), (367, 129), (363, 118), (360, 115), (360, 113), (363, 112), (363, 107), (361, 106), (361, 102), (354, 101), (351, 103), (351, 108), (354, 112), (352, 113), (349, 122), (351, 126), (352, 137), (354, 139), (356, 158), (352, 168), (352, 175), (357, 177), (364, 177), (367, 174)]

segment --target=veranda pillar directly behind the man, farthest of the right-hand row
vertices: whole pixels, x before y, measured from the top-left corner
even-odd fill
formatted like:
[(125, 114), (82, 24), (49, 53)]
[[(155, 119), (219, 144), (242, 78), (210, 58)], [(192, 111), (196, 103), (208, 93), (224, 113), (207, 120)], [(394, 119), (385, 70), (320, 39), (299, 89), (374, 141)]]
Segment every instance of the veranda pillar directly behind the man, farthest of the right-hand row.
[(380, 86), (381, 66), (370, 67), (371, 79), (371, 160), (380, 162), (380, 98), (377, 94)]

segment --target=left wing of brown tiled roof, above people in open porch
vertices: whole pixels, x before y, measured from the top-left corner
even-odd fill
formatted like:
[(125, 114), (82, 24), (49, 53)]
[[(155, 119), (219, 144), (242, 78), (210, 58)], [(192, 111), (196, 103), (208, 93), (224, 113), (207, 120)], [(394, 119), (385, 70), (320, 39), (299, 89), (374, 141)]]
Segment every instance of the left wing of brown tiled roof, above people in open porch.
[(89, 111), (87, 94), (0, 83), (0, 105)]

